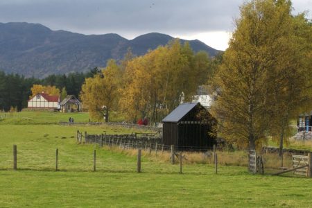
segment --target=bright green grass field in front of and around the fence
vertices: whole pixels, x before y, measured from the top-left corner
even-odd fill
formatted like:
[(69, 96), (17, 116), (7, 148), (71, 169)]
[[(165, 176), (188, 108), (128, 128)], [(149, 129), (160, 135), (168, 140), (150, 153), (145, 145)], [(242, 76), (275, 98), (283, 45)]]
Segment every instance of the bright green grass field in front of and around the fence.
[[(61, 126), (53, 122), (73, 114), (27, 114), (0, 121), (0, 207), (312, 207), (309, 178), (252, 175), (239, 166), (220, 166), (216, 175), (214, 166), (207, 164), (185, 165), (181, 175), (177, 164), (148, 156), (143, 157), (143, 173), (136, 173), (136, 157), (76, 144), (76, 131), (137, 130)], [(32, 122), (17, 122), (21, 117)], [(75, 117), (88, 119), (87, 114)], [(13, 144), (18, 171), (12, 171)], [(58, 172), (54, 171), (56, 148)]]

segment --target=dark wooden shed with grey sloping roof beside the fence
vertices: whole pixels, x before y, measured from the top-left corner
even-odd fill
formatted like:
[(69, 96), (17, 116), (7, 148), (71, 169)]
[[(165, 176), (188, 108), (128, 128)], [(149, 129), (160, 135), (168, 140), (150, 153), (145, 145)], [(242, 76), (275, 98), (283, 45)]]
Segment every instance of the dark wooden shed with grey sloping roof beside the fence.
[(216, 119), (200, 103), (182, 103), (163, 122), (163, 143), (177, 150), (207, 150), (216, 144)]

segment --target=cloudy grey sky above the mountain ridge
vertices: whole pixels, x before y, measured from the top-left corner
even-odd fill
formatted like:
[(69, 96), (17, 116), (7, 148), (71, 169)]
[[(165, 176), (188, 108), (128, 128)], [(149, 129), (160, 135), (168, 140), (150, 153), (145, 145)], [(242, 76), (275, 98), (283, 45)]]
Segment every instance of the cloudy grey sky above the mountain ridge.
[[(225, 50), (244, 0), (0, 0), (0, 22), (40, 23), (75, 33), (117, 33), (129, 40), (165, 33)], [(293, 0), (293, 13), (312, 0)]]

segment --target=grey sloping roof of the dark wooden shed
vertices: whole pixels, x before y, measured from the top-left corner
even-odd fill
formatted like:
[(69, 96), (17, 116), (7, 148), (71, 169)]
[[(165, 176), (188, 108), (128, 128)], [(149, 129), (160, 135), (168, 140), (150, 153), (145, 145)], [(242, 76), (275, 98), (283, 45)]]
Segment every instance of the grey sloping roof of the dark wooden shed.
[(182, 103), (175, 108), (168, 116), (162, 119), (162, 122), (179, 122), (188, 112), (190, 112), (198, 103)]

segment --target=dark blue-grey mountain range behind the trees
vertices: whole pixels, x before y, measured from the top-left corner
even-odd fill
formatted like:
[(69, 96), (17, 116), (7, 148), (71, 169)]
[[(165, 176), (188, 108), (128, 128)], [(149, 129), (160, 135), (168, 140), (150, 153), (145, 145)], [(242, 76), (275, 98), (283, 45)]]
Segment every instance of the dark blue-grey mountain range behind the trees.
[[(51, 31), (41, 24), (0, 23), (0, 70), (37, 78), (88, 71), (105, 67), (110, 58), (121, 60), (129, 47), (135, 55), (144, 55), (173, 39), (161, 33), (148, 33), (127, 40), (114, 33), (83, 35)], [(219, 52), (199, 40), (191, 40), (189, 44), (193, 51), (207, 51), (210, 56)]]

